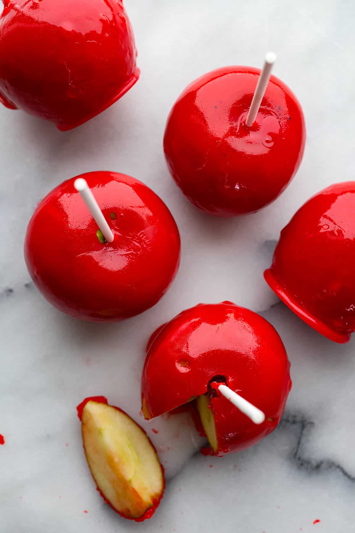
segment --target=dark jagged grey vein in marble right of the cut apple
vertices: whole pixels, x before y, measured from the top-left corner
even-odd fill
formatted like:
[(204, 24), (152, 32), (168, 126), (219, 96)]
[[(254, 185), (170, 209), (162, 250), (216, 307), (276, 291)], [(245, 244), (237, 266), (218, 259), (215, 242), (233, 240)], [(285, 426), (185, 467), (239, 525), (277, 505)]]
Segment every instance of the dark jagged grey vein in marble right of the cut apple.
[(331, 461), (331, 459), (319, 459), (319, 461), (312, 461), (303, 455), (303, 439), (307, 433), (307, 430), (315, 426), (314, 422), (308, 420), (303, 415), (286, 413), (280, 422), (280, 426), (286, 427), (288, 425), (298, 425), (300, 428), (299, 437), (292, 456), (299, 469), (307, 470), (308, 472), (338, 470), (345, 476), (346, 479), (352, 483), (355, 483), (355, 476), (351, 475), (347, 470), (345, 470), (341, 464), (335, 463), (334, 461)]

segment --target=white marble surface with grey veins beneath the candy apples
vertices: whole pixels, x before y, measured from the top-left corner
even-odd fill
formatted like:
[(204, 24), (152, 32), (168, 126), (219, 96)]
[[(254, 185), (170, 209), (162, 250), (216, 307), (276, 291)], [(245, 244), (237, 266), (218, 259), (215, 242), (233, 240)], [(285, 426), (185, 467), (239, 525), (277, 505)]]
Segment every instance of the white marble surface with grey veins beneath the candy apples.
[[(68, 133), (0, 109), (0, 531), (351, 533), (355, 339), (341, 346), (313, 332), (276, 304), (262, 271), (303, 201), (354, 179), (355, 4), (127, 0), (126, 8), (142, 76), (122, 100)], [(225, 64), (260, 66), (266, 50), (278, 54), (275, 74), (304, 109), (303, 163), (282, 197), (260, 213), (210, 218), (169, 177), (164, 123), (191, 80)], [(32, 285), (22, 256), (38, 201), (64, 179), (95, 169), (150, 185), (182, 238), (181, 268), (168, 294), (118, 325), (83, 324), (53, 309)], [(195, 454), (201, 439), (186, 414), (145, 423), (169, 481), (151, 520), (125, 521), (95, 491), (76, 405), (104, 394), (143, 422), (139, 378), (147, 337), (182, 309), (226, 299), (261, 311), (283, 338), (294, 382), (283, 422), (254, 448), (222, 459)]]

